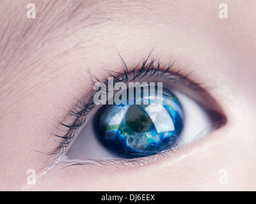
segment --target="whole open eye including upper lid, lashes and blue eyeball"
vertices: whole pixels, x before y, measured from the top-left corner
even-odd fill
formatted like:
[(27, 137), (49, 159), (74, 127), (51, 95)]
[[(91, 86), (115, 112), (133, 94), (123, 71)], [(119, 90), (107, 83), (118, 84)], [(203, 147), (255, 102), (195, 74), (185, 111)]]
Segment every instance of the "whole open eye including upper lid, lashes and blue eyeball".
[[(225, 123), (207, 91), (148, 58), (140, 68), (124, 66), (70, 111), (54, 154), (59, 164), (147, 163), (172, 156)], [(88, 97), (89, 96), (89, 97)]]

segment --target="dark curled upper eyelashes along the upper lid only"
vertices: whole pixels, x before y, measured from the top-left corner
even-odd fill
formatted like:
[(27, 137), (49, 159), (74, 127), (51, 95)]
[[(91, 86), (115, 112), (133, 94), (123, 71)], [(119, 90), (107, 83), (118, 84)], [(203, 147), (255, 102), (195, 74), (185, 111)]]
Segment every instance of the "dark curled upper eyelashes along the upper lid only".
[[(184, 84), (185, 86), (188, 86), (189, 89), (192, 89), (193, 91), (199, 91), (199, 92), (205, 92), (202, 87), (200, 87), (198, 83), (194, 83), (191, 80), (188, 79), (189, 75), (191, 75), (192, 72), (189, 72), (188, 74), (182, 76), (180, 75), (180, 71), (182, 69), (179, 69), (179, 71), (170, 71), (172, 69), (175, 62), (169, 62), (167, 68), (161, 68), (161, 62), (160, 60), (156, 60), (156, 58), (150, 59), (150, 55), (148, 55), (147, 59), (142, 61), (141, 67), (140, 63), (135, 66), (132, 69), (129, 69), (127, 65), (125, 64), (124, 59), (120, 56), (122, 60), (122, 72), (117, 71), (108, 71), (108, 77), (113, 77), (114, 84), (117, 82), (131, 82), (136, 79), (142, 79), (142, 78), (161, 78), (165, 80), (172, 80), (175, 83)], [(100, 82), (99, 78), (95, 77), (90, 73), (92, 85), (96, 84), (97, 82)], [(105, 77), (103, 83), (108, 87), (108, 77)], [(57, 142), (58, 147), (56, 149), (52, 150), (51, 152), (46, 152), (47, 155), (54, 155), (55, 158), (52, 159), (50, 165), (60, 163), (60, 158), (63, 156), (63, 154), (66, 152), (67, 147), (69, 146), (70, 142), (72, 142), (73, 138), (77, 135), (77, 130), (83, 126), (84, 122), (86, 121), (86, 116), (93, 110), (95, 107), (95, 104), (93, 103), (93, 93), (96, 91), (91, 91), (88, 94), (86, 94), (87, 98), (86, 101), (77, 99), (77, 104), (68, 111), (67, 117), (72, 117), (73, 122), (70, 122), (68, 124), (65, 124), (64, 122), (59, 122), (58, 127), (64, 127), (66, 130), (64, 131), (64, 135), (58, 135), (54, 134), (54, 137), (58, 140)], [(108, 90), (106, 91), (108, 92)], [(88, 99), (89, 98), (89, 99)], [(60, 129), (60, 128), (58, 128)], [(162, 152), (163, 153), (163, 152)], [(161, 154), (163, 155), (163, 154)], [(139, 158), (140, 159), (140, 158)], [(115, 161), (116, 162), (116, 161)], [(99, 163), (103, 163), (103, 161), (100, 161)]]

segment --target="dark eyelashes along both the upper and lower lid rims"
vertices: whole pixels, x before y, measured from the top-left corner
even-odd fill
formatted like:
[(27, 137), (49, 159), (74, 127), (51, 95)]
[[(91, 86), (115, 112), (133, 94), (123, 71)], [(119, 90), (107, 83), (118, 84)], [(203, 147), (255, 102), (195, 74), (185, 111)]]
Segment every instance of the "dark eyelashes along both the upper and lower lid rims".
[[(116, 82), (132, 82), (136, 79), (142, 79), (146, 78), (149, 79), (151, 77), (159, 77), (159, 78), (164, 78), (165, 80), (172, 80), (175, 81), (176, 84), (184, 84), (189, 86), (189, 89), (193, 89), (194, 91), (204, 91), (201, 87), (199, 87), (200, 84), (193, 83), (187, 78), (189, 75), (191, 75), (192, 72), (189, 72), (185, 76), (180, 75), (180, 69), (177, 72), (172, 72), (170, 69), (172, 69), (173, 65), (175, 62), (170, 62), (164, 71), (162, 71), (161, 68), (161, 62), (154, 58), (150, 59), (150, 55), (148, 55), (147, 59), (144, 59), (142, 61), (142, 65), (139, 67), (139, 64), (135, 66), (132, 69), (129, 69), (127, 65), (125, 64), (124, 59), (120, 56), (120, 59), (122, 61), (122, 73), (116, 72), (116, 71), (108, 71), (109, 76), (108, 77), (113, 77), (114, 79), (114, 84)], [(149, 60), (150, 59), (150, 60)], [(150, 61), (150, 62), (148, 62)], [(97, 77), (94, 77), (91, 73), (91, 81), (92, 81), (92, 87), (95, 83), (100, 82), (100, 80)], [(132, 78), (131, 78), (132, 76)], [(104, 79), (104, 84), (106, 87), (108, 87), (108, 77), (105, 77)], [(129, 77), (131, 79), (129, 79)], [(107, 90), (108, 92), (108, 90)], [(91, 92), (90, 95), (93, 94), (93, 91)], [(58, 161), (58, 158), (60, 158), (64, 152), (66, 151), (68, 145), (70, 142), (72, 142), (72, 139), (74, 136), (76, 136), (77, 130), (83, 126), (84, 122), (86, 121), (87, 115), (93, 110), (95, 107), (95, 104), (93, 103), (93, 96), (90, 96), (90, 101), (86, 103), (85, 101), (78, 101), (78, 104), (72, 109), (69, 110), (70, 112), (70, 117), (73, 117), (73, 121), (71, 124), (64, 124), (63, 122), (59, 122), (60, 126), (67, 128), (65, 131), (64, 135), (57, 135), (55, 134), (54, 136), (60, 140), (58, 147), (56, 149), (52, 150), (51, 152), (48, 152), (46, 154), (48, 155), (54, 155), (55, 158), (52, 160), (50, 166), (52, 164), (56, 164), (56, 161)], [(183, 148), (183, 147), (181, 147)], [(175, 149), (175, 151), (173, 150)], [(173, 156), (173, 154), (176, 154), (177, 151), (180, 150), (179, 147), (174, 147), (170, 150), (166, 150), (165, 152), (161, 152), (157, 155), (154, 156), (149, 156), (148, 158), (151, 158), (153, 161), (157, 161), (160, 157), (170, 157)], [(138, 159), (111, 159), (111, 160), (92, 160), (88, 159), (88, 162), (76, 162), (76, 161), (67, 161), (67, 162), (61, 162), (58, 161), (58, 165), (65, 165), (65, 166), (74, 166), (74, 165), (88, 165), (92, 164), (93, 166), (97, 166), (98, 164), (104, 164), (106, 166), (116, 166), (116, 165), (122, 165), (124, 166), (125, 164), (133, 164), (134, 166), (141, 166), (143, 164), (148, 163), (148, 159), (145, 158), (138, 158)]]

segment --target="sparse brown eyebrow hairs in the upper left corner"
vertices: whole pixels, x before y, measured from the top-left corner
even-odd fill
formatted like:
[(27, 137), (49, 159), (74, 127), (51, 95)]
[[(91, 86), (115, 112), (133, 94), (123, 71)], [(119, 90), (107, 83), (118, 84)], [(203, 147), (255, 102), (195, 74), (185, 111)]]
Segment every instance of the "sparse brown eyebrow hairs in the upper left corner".
[[(26, 16), (27, 1), (3, 1), (0, 4), (1, 98), (10, 95), (12, 87), (17, 82), (24, 84), (24, 81), (29, 80), (33, 73), (32, 69), (37, 68), (38, 64), (51, 60), (41, 57), (41, 50), (44, 52), (46, 45), (46, 50), (50, 50), (47, 54), (54, 55), (51, 52), (51, 41), (61, 41), (66, 38), (67, 34), (61, 33), (63, 27), (64, 30), (67, 27), (75, 32), (81, 29), (79, 27), (81, 25), (86, 27), (107, 20), (99, 12), (107, 1), (49, 0), (45, 2), (35, 0), (33, 3), (36, 6), (35, 19), (28, 19)], [(21, 89), (22, 85), (18, 87)], [(20, 93), (19, 97), (16, 97), (21, 98), (21, 95)], [(0, 119), (6, 115), (5, 112), (0, 115)]]

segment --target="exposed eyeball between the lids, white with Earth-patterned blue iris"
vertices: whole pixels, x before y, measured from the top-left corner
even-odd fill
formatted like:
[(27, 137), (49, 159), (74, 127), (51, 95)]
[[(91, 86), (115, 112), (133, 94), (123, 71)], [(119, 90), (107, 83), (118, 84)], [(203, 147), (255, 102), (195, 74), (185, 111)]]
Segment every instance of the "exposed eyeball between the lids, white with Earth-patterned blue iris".
[(209, 135), (223, 120), (163, 84), (123, 88), (95, 93), (95, 111), (68, 149), (68, 159), (152, 156)]

